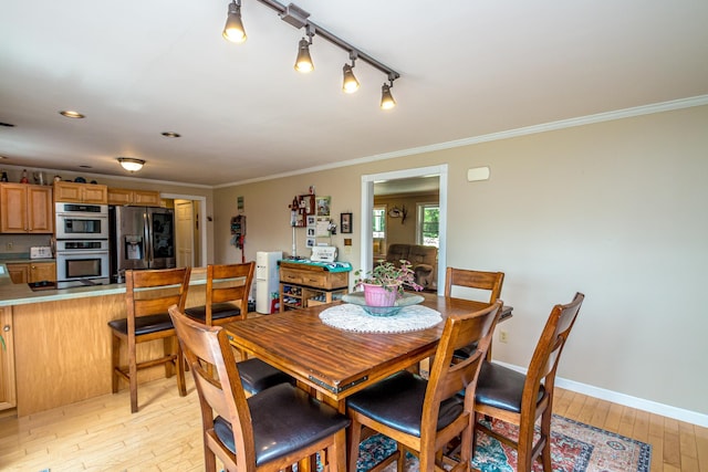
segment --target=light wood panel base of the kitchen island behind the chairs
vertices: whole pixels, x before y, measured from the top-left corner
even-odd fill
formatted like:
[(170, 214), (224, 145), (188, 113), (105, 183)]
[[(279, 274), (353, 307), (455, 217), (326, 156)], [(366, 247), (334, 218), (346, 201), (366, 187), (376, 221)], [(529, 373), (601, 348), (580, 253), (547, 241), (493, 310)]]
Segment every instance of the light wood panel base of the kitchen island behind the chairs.
[[(206, 302), (204, 289), (190, 286), (187, 306)], [(107, 323), (125, 316), (125, 293), (12, 306), (18, 416), (111, 394)], [(158, 353), (162, 340), (137, 348), (138, 360)], [(123, 347), (121, 354), (125, 364)], [(165, 368), (156, 366), (142, 370), (138, 381), (164, 376)], [(122, 382), (122, 389), (127, 387)]]

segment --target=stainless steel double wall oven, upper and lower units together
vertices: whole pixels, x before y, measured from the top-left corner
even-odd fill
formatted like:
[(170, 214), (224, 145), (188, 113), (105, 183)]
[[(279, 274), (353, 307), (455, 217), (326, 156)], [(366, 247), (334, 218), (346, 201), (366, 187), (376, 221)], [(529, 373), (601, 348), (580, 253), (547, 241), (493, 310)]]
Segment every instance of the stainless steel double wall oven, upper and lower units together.
[(111, 282), (108, 206), (56, 203), (56, 287)]

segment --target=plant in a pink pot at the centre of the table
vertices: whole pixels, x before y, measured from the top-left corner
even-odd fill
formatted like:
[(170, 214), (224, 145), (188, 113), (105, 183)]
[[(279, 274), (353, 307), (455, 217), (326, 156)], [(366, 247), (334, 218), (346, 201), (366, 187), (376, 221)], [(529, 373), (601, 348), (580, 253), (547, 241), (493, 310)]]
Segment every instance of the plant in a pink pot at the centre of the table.
[[(354, 272), (354, 275), (362, 275), (362, 271)], [(394, 306), (396, 298), (403, 296), (405, 287), (416, 292), (423, 290), (416, 283), (410, 262), (405, 259), (400, 260), (399, 266), (393, 262), (381, 262), (354, 281), (354, 287), (360, 286), (364, 289), (364, 300), (369, 306)]]

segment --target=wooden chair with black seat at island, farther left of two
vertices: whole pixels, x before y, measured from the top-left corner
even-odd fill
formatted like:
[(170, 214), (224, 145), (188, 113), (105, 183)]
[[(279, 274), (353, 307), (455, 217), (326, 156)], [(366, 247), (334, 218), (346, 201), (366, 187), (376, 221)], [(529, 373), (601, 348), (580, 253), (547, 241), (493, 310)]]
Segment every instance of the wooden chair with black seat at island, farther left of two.
[[(126, 271), (125, 302), (127, 316), (108, 322), (112, 333), (112, 388), (118, 391), (119, 379), (128, 381), (131, 388), (131, 411), (137, 406), (137, 371), (148, 367), (165, 365), (165, 375), (171, 377), (177, 367), (177, 389), (187, 395), (185, 369), (175, 328), (167, 310), (177, 304), (184, 308), (189, 289), (190, 268)], [(137, 345), (163, 339), (164, 355), (159, 358), (138, 361)], [(121, 345), (127, 346), (127, 365), (121, 364)]]

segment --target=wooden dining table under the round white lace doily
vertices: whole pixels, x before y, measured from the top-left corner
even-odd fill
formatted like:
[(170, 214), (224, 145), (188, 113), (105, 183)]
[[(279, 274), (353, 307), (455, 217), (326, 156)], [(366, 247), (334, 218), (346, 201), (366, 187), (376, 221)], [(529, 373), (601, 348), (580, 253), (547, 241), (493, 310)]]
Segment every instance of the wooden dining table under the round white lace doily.
[[(316, 398), (345, 411), (345, 399), (378, 380), (435, 354), (447, 316), (476, 312), (489, 304), (425, 294), (423, 305), (442, 322), (407, 333), (358, 333), (324, 324), (317, 305), (223, 325), (230, 343), (291, 375)], [(502, 308), (502, 318), (511, 316)]]

